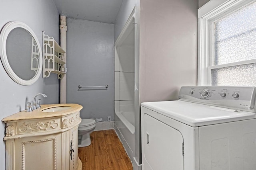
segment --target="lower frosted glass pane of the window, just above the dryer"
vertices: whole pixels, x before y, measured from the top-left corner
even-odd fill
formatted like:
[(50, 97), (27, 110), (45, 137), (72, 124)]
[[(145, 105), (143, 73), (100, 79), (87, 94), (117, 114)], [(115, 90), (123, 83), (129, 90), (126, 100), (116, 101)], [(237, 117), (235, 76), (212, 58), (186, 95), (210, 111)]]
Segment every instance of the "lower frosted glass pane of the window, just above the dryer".
[(256, 86), (256, 63), (212, 69), (212, 86)]

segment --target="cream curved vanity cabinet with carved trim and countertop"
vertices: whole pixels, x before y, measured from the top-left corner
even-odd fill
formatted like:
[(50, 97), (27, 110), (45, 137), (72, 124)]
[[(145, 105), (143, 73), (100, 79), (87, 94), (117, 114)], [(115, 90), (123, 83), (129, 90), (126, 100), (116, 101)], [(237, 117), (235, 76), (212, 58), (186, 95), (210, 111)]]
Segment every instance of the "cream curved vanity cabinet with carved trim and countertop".
[[(44, 112), (51, 107), (70, 109)], [(78, 158), (78, 104), (42, 105), (2, 119), (6, 123), (6, 170), (82, 170)]]

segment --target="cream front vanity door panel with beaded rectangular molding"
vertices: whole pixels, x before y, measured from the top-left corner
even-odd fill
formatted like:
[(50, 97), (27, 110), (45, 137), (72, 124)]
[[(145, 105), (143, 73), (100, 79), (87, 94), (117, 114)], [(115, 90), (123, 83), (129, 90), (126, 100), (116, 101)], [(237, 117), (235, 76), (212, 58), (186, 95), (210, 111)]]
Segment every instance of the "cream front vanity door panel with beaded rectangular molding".
[(61, 133), (15, 139), (15, 169), (61, 170)]

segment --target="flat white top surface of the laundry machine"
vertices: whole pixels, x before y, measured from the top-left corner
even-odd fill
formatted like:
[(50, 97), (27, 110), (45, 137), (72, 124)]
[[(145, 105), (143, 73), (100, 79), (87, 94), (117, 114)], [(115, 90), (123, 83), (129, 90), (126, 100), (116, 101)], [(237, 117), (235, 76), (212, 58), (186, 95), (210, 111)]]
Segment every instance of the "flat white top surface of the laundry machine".
[(142, 103), (141, 106), (192, 127), (256, 118), (256, 114), (253, 112), (208, 106), (181, 100), (146, 102)]

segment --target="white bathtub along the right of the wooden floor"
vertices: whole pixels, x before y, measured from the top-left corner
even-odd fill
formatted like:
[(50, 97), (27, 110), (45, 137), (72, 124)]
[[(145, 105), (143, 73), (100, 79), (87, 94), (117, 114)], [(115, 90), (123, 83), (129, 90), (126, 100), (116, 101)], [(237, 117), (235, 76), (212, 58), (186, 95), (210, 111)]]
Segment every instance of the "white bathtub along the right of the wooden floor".
[(115, 131), (132, 160), (135, 150), (134, 111), (115, 112)]

